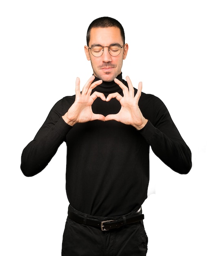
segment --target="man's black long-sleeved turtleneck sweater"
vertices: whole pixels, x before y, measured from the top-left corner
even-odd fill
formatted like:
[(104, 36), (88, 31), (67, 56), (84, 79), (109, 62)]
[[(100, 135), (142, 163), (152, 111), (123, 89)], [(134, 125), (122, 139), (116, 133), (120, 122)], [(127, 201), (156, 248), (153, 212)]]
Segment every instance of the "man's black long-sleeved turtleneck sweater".
[[(118, 77), (125, 85), (127, 82)], [(94, 90), (105, 96), (122, 94), (114, 82)], [(93, 91), (94, 91), (93, 90)], [(135, 93), (137, 90), (135, 89)], [(46, 121), (22, 153), (21, 169), (33, 176), (42, 171), (63, 141), (67, 144), (67, 197), (75, 209), (93, 216), (120, 216), (140, 208), (147, 198), (149, 147), (174, 171), (191, 169), (191, 151), (180, 136), (164, 103), (151, 94), (142, 95), (140, 110), (148, 119), (142, 130), (117, 121), (90, 121), (69, 126), (62, 119), (75, 96), (64, 97), (51, 109)], [(94, 113), (118, 113), (119, 101), (97, 98)]]

